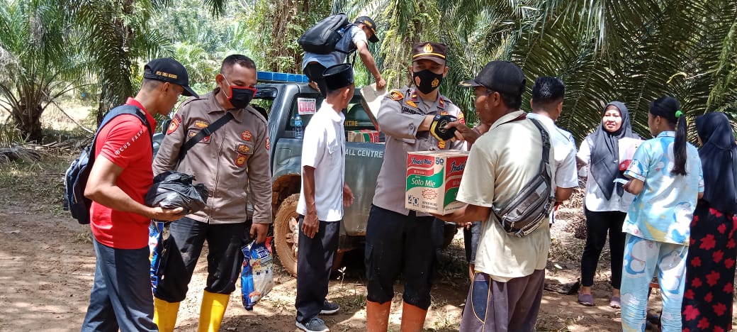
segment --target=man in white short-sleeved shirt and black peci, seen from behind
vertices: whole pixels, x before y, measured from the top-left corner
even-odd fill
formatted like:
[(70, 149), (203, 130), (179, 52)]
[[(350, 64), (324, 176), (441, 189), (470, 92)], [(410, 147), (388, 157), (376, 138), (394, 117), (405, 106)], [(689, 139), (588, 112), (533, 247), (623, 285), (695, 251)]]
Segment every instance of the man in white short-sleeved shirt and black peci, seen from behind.
[(297, 204), (299, 241), (297, 258), (298, 328), (327, 332), (318, 314), (335, 314), (338, 303), (327, 300), (330, 269), (338, 253), (343, 206), (353, 204), (345, 181), (346, 136), (342, 110), (353, 98), (353, 66), (342, 63), (325, 70), (327, 99), (310, 120), (302, 144), (302, 189)]

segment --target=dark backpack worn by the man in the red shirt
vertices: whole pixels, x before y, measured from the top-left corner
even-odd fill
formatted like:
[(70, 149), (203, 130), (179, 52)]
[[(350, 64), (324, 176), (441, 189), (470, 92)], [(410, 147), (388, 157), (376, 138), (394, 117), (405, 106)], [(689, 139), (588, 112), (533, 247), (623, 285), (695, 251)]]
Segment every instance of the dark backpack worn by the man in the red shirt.
[(95, 142), (97, 142), (97, 134), (105, 125), (113, 120), (113, 118), (122, 114), (133, 114), (141, 120), (148, 127), (148, 133), (151, 134), (151, 125), (146, 120), (146, 114), (136, 106), (123, 105), (113, 108), (105, 117), (102, 118), (102, 123), (99, 124), (97, 132), (95, 132), (92, 138), (92, 143), (82, 149), (80, 156), (71, 162), (69, 168), (64, 174), (64, 203), (63, 209), (71, 212), (71, 216), (80, 224), (90, 223), (90, 207), (92, 201), (85, 197), (85, 187), (87, 186), (87, 179), (90, 176), (90, 170), (94, 165), (94, 151)]

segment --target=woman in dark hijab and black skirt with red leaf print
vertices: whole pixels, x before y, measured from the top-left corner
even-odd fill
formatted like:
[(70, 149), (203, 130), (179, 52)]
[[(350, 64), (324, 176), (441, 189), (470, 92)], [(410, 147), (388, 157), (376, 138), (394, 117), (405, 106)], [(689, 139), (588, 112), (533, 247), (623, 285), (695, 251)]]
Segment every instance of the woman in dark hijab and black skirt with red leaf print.
[(737, 145), (722, 113), (696, 118), (704, 196), (691, 221), (683, 331), (730, 331), (737, 243)]

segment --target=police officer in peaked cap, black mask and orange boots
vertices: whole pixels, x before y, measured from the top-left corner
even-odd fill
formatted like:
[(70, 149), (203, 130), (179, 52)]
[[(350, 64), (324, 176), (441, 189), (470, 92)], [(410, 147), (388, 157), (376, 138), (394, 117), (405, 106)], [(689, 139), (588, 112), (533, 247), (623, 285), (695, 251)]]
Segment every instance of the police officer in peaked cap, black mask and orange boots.
[(405, 209), (407, 152), (464, 148), (463, 142), (444, 140), (450, 137), (439, 132), (443, 121), (464, 122), (461, 110), (438, 91), (448, 72), (446, 46), (415, 44), (409, 69), (414, 87), (391, 91), (377, 114), (386, 145), (366, 229), (366, 320), (371, 332), (387, 329), (399, 274), (405, 280), (402, 331), (422, 331), (430, 307), (431, 276), (443, 224)]

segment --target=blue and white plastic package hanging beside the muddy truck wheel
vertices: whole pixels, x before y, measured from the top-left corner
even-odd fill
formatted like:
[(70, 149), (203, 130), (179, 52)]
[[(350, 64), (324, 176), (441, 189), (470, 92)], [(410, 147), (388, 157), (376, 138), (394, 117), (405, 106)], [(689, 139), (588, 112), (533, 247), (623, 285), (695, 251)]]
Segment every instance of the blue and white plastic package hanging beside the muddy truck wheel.
[(269, 294), (274, 286), (273, 238), (257, 244), (256, 241), (243, 246), (243, 272), (240, 276), (243, 308), (254, 310), (254, 305)]

